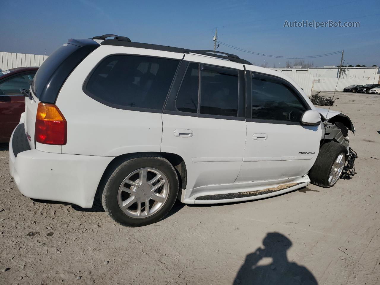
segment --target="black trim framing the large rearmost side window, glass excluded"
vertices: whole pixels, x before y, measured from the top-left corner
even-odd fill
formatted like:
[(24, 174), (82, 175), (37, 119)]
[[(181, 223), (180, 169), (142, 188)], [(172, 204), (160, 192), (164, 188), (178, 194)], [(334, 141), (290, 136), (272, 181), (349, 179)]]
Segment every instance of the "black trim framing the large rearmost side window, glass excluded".
[[(86, 89), (86, 86), (87, 86), (88, 81), (90, 80), (92, 74), (95, 72), (95, 70), (98, 68), (98, 66), (99, 66), (103, 61), (105, 61), (108, 57), (115, 56), (115, 55), (131, 55), (131, 56), (138, 56), (138, 57), (152, 57), (152, 58), (158, 58), (158, 59), (170, 59), (170, 60), (177, 60), (177, 61), (178, 61), (178, 65), (177, 65), (176, 72), (174, 73), (174, 76), (173, 76), (173, 79), (172, 79), (172, 81), (171, 81), (171, 84), (170, 84), (170, 87), (169, 87), (168, 93), (166, 94), (166, 98), (165, 98), (164, 104), (163, 104), (163, 106), (162, 106), (161, 109), (151, 109), (151, 108), (143, 108), (143, 107), (128, 107), (128, 106), (123, 106), (123, 105), (118, 105), (118, 104), (109, 103), (108, 101), (103, 100), (103, 99), (97, 97), (96, 95), (92, 94), (89, 90)], [(86, 79), (84, 80), (84, 82), (83, 82), (83, 84), (82, 84), (82, 91), (83, 91), (87, 96), (89, 96), (90, 98), (92, 98), (93, 100), (98, 101), (99, 103), (101, 103), (101, 104), (103, 104), (103, 105), (106, 105), (106, 106), (109, 106), (109, 107), (111, 107), (111, 108), (122, 109), (122, 110), (129, 110), (129, 111), (138, 111), (138, 112), (162, 113), (163, 110), (164, 110), (164, 108), (165, 108), (166, 101), (168, 100), (168, 96), (169, 96), (170, 91), (171, 91), (171, 89), (172, 89), (172, 86), (173, 86), (174, 80), (175, 80), (175, 78), (176, 78), (176, 76), (177, 76), (177, 73), (178, 73), (179, 66), (180, 66), (181, 62), (182, 62), (181, 59), (173, 59), (173, 58), (171, 58), (171, 57), (161, 57), (161, 56), (155, 56), (155, 55), (145, 55), (145, 54), (123, 54), (123, 53), (108, 54), (108, 55), (106, 55), (105, 57), (103, 57), (101, 60), (99, 60), (99, 62), (95, 65), (95, 67), (92, 68), (92, 70), (90, 71), (90, 73), (87, 75)]]

